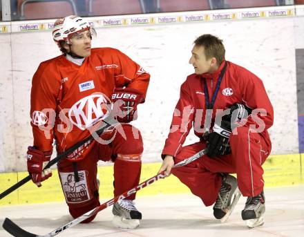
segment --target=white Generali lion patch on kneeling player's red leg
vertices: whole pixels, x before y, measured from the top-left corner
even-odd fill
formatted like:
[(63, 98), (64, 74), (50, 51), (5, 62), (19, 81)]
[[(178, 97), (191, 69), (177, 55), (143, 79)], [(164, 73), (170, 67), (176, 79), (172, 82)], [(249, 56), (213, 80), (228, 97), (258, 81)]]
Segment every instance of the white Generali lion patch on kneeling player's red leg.
[(86, 171), (78, 171), (79, 182), (75, 181), (74, 172), (59, 172), (59, 175), (62, 188), (64, 189), (64, 196), (66, 196), (66, 202), (86, 202), (91, 199), (86, 180)]

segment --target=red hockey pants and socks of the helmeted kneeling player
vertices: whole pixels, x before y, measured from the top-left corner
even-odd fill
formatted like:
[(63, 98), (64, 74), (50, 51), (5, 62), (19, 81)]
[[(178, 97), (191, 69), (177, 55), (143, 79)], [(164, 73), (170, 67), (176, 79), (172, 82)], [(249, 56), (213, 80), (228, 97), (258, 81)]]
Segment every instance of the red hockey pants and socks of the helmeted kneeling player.
[[(77, 218), (100, 205), (97, 184), (98, 160), (114, 162), (114, 196), (132, 189), (140, 182), (143, 152), (140, 131), (130, 124), (104, 132), (101, 137), (109, 144), (93, 141), (85, 157), (77, 162), (62, 160), (59, 178), (70, 215)], [(135, 194), (128, 199), (134, 200)], [(84, 220), (91, 222), (95, 216)]]

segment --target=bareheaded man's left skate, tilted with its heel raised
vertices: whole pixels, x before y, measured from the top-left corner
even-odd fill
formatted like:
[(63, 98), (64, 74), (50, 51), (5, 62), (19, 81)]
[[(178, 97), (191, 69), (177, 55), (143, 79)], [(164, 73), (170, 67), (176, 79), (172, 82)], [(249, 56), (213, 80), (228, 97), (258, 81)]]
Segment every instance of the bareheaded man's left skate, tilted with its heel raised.
[[(231, 202), (232, 198), (233, 200)], [(216, 219), (220, 219), (221, 222), (225, 222), (234, 210), (238, 199), (240, 199), (240, 191), (238, 190), (236, 178), (230, 175), (223, 176), (218, 199), (213, 206), (213, 216)]]

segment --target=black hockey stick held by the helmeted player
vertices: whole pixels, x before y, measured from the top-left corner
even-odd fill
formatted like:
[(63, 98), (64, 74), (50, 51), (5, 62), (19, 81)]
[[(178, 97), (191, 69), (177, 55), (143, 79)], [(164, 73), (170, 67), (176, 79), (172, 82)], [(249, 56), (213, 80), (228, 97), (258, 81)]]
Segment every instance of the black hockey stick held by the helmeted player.
[[(103, 126), (100, 129), (97, 129), (97, 131), (95, 131), (95, 133), (97, 133), (97, 135), (102, 134), (106, 129), (108, 129), (108, 127), (112, 126), (115, 122), (117, 122), (116, 120), (113, 120), (113, 118), (111, 118), (110, 116), (108, 116), (108, 117), (110, 119), (108, 119), (108, 121), (105, 121), (105, 120), (102, 121), (102, 122), (104, 122)], [(78, 142), (75, 145), (71, 146), (69, 149), (67, 149), (66, 151), (64, 151), (60, 155), (57, 155), (56, 158), (54, 158), (53, 160), (50, 160), (50, 162), (48, 162), (48, 164), (46, 164), (46, 167), (44, 167), (44, 170), (50, 168), (53, 164), (56, 164), (57, 162), (59, 162), (59, 160), (62, 160), (68, 154), (75, 151), (77, 148), (79, 148), (80, 146), (82, 146), (86, 142), (93, 140), (94, 136), (95, 136), (95, 134), (94, 135), (92, 135), (92, 134), (89, 135), (88, 138), (86, 138), (86, 139), (82, 140), (81, 142)], [(28, 175), (28, 176), (26, 176), (26, 178), (23, 178), (23, 180), (20, 180), (16, 184), (12, 185), (12, 187), (6, 189), (6, 191), (3, 191), (3, 193), (0, 194), (0, 200), (2, 198), (4, 198), (5, 196), (7, 196), (8, 194), (10, 194), (12, 191), (15, 191), (16, 189), (21, 187), (23, 184), (26, 184), (26, 182), (28, 182), (30, 180), (31, 180), (31, 176)]]

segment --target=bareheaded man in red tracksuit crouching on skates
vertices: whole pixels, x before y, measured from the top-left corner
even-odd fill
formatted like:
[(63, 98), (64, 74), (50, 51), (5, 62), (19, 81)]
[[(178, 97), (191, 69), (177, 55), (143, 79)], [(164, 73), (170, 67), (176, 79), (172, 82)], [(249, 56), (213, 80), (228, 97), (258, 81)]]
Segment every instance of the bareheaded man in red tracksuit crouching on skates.
[[(242, 193), (247, 197), (243, 220), (249, 227), (263, 225), (262, 164), (271, 151), (267, 129), (274, 120), (263, 82), (225, 60), (218, 37), (198, 37), (191, 53), (189, 63), (195, 73), (180, 88), (159, 172), (169, 175), (174, 163), (207, 148), (207, 155), (172, 169), (173, 175), (206, 206), (215, 203), (213, 215), (222, 222)], [(192, 126), (200, 141), (182, 146)], [(230, 173), (236, 173), (237, 179)]]

